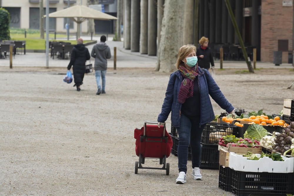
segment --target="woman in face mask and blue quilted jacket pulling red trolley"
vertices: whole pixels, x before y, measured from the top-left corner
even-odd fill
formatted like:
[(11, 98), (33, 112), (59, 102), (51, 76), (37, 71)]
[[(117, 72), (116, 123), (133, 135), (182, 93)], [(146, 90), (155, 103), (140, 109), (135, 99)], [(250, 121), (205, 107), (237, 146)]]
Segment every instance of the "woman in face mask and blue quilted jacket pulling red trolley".
[(206, 123), (215, 118), (209, 95), (235, 117), (233, 106), (226, 100), (209, 72), (198, 67), (197, 60), (194, 45), (183, 45), (179, 49), (176, 62), (178, 70), (169, 78), (166, 97), (157, 119), (158, 126), (163, 125), (171, 112), (171, 123), (178, 130), (177, 184), (186, 183), (189, 144), (193, 179), (202, 179), (199, 169), (202, 130)]

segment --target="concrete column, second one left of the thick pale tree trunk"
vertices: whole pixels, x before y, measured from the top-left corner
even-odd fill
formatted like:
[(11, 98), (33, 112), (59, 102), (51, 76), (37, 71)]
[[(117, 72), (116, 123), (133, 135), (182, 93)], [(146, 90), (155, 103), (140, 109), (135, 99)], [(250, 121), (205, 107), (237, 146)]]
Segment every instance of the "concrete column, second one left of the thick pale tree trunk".
[(157, 8), (156, 0), (148, 1), (148, 56), (156, 56)]

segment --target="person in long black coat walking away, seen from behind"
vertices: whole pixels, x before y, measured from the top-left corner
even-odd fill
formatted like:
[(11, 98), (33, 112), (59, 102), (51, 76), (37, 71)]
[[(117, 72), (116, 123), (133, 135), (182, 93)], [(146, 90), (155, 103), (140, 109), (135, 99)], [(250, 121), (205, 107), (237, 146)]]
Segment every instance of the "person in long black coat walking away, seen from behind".
[(71, 61), (67, 66), (67, 69), (70, 70), (71, 66), (73, 66), (74, 71), (74, 83), (76, 86), (76, 90), (80, 91), (80, 86), (83, 84), (83, 78), (85, 74), (85, 65), (86, 61), (90, 59), (90, 53), (88, 48), (83, 45), (83, 39), (78, 38), (77, 45), (74, 46), (71, 51)]

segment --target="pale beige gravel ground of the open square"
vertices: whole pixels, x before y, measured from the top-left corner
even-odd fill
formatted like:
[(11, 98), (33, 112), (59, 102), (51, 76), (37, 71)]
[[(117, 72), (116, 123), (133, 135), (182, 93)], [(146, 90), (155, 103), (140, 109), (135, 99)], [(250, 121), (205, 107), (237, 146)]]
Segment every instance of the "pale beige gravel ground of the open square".
[[(234, 72), (217, 71), (216, 82), (235, 107), (272, 114), (293, 98), (285, 87), (293, 71)], [(203, 180), (193, 180), (191, 161), (187, 183), (175, 184), (173, 155), (169, 176), (134, 174), (133, 130), (157, 119), (170, 74), (109, 70), (106, 94), (97, 96), (93, 74), (77, 92), (59, 73), (64, 70), (0, 68), (0, 195), (233, 195), (218, 188), (218, 170), (203, 169)], [(213, 108), (223, 112), (214, 101)], [(156, 159), (145, 163), (158, 166)]]

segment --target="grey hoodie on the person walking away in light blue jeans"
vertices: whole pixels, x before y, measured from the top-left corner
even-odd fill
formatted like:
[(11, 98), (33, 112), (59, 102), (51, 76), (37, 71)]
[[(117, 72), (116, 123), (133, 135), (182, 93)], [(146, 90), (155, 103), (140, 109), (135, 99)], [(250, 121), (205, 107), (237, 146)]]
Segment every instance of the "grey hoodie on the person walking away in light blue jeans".
[(110, 48), (105, 42), (99, 42), (93, 47), (91, 57), (95, 58), (94, 69), (104, 71), (107, 69), (106, 59), (111, 58)]

